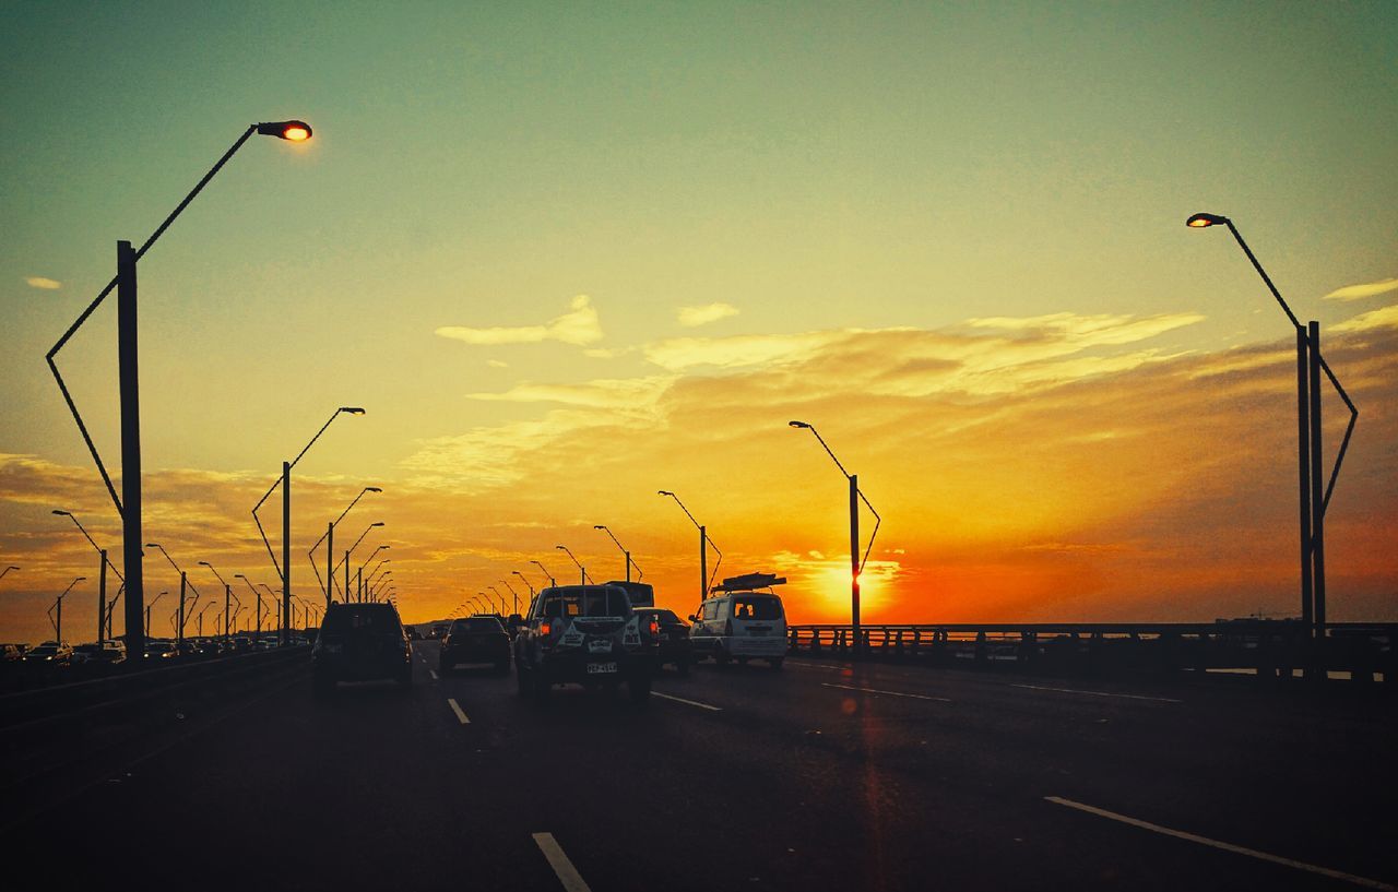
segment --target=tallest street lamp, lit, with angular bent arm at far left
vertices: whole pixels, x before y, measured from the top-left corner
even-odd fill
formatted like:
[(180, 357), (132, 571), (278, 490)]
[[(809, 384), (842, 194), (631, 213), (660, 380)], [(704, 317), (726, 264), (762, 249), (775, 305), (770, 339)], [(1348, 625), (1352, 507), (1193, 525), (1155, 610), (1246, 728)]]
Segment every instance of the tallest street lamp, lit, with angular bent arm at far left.
[[(45, 355), (49, 371), (53, 372), (53, 380), (57, 382), (59, 390), (63, 393), (63, 400), (73, 414), (73, 421), (77, 422), (78, 432), (82, 433), (82, 442), (87, 443), (88, 452), (92, 454), (92, 461), (102, 475), (102, 482), (106, 484), (106, 491), (116, 505), (116, 513), (122, 517), (122, 563), (126, 568), (126, 647), (129, 653), (145, 652), (145, 628), (143, 625), (145, 619), (145, 582), (141, 575), (141, 411), (140, 379), (137, 373), (136, 264), (254, 133), (302, 143), (310, 138), (310, 126), (302, 120), (247, 124), (243, 134), (210, 168), (204, 179), (194, 185), (194, 189), (171, 211), (171, 215), (155, 228), (155, 232), (145, 239), (145, 243), (140, 249), (133, 249), (131, 243), (124, 240), (116, 243), (116, 277), (108, 282), (106, 288), (98, 294)], [(73, 401), (73, 394), (69, 393), (69, 386), (64, 383), (63, 375), (59, 373), (59, 365), (55, 361), (55, 357), (63, 350), (64, 344), (69, 343), (113, 288), (116, 288), (117, 393), (122, 418), (122, 498), (116, 495), (112, 477), (106, 473), (106, 466), (102, 464), (102, 456), (98, 454), (96, 445), (92, 442), (91, 435), (88, 435), (77, 403)]]

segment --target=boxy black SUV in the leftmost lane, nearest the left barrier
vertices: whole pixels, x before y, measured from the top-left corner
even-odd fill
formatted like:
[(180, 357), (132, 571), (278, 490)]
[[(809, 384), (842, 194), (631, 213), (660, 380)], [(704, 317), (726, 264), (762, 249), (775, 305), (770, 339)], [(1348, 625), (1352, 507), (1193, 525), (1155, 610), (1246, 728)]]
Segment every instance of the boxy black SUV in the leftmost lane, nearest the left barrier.
[(331, 604), (310, 650), (316, 693), (340, 681), (391, 678), (412, 686), (412, 645), (393, 604)]

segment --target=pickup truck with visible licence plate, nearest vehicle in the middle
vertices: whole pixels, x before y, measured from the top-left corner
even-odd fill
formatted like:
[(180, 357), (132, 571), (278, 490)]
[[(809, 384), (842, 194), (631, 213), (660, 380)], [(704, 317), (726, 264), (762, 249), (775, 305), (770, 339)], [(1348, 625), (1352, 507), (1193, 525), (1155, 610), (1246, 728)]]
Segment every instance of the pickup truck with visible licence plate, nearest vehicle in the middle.
[(542, 702), (554, 685), (615, 689), (650, 699), (660, 626), (642, 621), (621, 586), (552, 586), (530, 605), (514, 639), (514, 671), (521, 696)]

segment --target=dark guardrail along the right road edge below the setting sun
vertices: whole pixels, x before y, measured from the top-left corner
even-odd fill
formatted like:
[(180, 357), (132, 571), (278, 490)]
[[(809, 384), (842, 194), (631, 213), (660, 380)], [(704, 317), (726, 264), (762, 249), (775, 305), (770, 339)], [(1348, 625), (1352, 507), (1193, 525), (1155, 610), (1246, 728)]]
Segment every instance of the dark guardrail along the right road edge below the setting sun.
[(1398, 624), (1336, 622), (1327, 636), (1309, 640), (1295, 619), (1230, 619), (1166, 624), (911, 624), (864, 625), (863, 654), (849, 625), (790, 625), (793, 653), (863, 656), (930, 666), (988, 670), (1014, 666), (1050, 674), (1174, 674), (1253, 671), (1260, 678), (1292, 678), (1293, 670), (1349, 672), (1359, 684), (1381, 675), (1395, 684)]

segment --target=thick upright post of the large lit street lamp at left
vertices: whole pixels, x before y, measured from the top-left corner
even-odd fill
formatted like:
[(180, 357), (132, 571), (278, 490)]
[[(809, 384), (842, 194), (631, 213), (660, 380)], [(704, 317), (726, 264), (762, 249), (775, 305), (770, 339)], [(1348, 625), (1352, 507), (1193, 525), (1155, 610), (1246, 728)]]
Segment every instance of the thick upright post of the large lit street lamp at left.
[(122, 563), (126, 570), (126, 653), (145, 653), (141, 573), (141, 405), (137, 375), (136, 252), (116, 243), (116, 352), (122, 403)]

